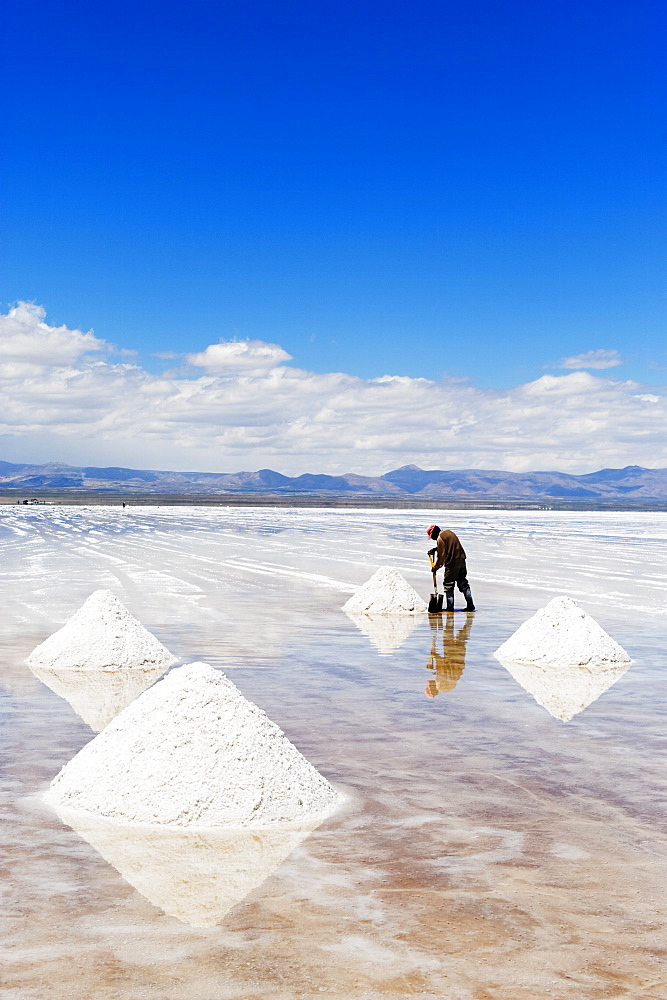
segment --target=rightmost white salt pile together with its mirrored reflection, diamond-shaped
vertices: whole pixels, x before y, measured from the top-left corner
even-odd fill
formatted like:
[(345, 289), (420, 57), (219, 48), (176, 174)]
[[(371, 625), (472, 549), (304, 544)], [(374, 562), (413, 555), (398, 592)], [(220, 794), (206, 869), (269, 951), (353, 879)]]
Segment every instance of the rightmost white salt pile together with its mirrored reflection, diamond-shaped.
[(495, 655), (539, 705), (564, 722), (599, 698), (632, 662), (569, 597), (555, 597)]

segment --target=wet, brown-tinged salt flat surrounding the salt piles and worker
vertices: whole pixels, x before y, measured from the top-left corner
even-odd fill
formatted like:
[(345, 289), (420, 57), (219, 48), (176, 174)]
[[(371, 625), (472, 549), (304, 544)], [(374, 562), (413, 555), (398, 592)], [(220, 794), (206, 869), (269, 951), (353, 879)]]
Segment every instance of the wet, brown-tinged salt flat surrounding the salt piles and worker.
[[(428, 595), (428, 520), (0, 509), (7, 996), (667, 996), (664, 517), (449, 512), (481, 610), (362, 632), (339, 609), (378, 565)], [(215, 844), (89, 831), (105, 861), (40, 801), (93, 734), (22, 661), (96, 587), (350, 793), (216, 926), (186, 922)], [(569, 723), (492, 655), (558, 593), (634, 660)]]

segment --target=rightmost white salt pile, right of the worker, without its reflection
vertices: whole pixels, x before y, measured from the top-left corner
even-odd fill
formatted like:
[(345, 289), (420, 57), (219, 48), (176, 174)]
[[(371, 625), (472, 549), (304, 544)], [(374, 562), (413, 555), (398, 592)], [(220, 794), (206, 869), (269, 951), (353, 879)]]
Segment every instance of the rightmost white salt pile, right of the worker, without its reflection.
[(625, 650), (571, 597), (554, 597), (495, 652), (496, 657), (517, 663), (551, 667), (596, 666), (630, 663)]

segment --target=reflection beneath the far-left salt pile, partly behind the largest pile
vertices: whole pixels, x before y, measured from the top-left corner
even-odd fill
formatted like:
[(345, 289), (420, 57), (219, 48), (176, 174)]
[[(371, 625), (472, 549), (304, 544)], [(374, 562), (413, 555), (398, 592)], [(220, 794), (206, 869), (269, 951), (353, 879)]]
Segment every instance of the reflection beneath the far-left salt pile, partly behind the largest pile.
[(99, 733), (119, 712), (138, 698), (166, 667), (122, 667), (118, 670), (54, 670), (30, 667), (35, 677), (70, 703), (90, 728)]

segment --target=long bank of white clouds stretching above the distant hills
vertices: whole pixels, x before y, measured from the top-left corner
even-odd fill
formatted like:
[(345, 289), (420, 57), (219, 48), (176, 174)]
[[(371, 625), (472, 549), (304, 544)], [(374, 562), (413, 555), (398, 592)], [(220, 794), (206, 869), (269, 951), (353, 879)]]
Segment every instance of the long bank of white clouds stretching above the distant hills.
[(315, 374), (285, 365), (286, 352), (260, 341), (245, 342), (241, 374), (230, 371), (229, 353), (224, 362), (216, 353), (227, 345), (214, 344), (201, 357), (217, 357), (224, 375), (155, 375), (91, 359), (102, 341), (49, 327), (34, 306), (20, 314), (18, 333), (17, 322), (14, 310), (0, 317), (1, 343), (23, 338), (13, 354), (0, 352), (0, 457), (10, 461), (292, 475), (378, 474), (412, 462), (571, 472), (667, 466), (667, 387), (585, 371), (503, 391)]

